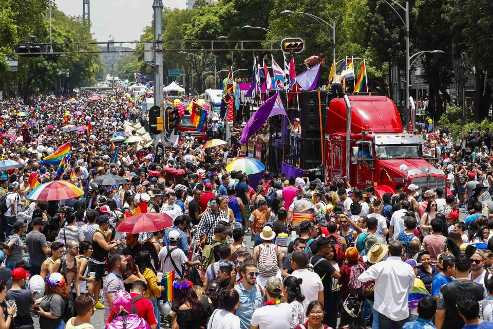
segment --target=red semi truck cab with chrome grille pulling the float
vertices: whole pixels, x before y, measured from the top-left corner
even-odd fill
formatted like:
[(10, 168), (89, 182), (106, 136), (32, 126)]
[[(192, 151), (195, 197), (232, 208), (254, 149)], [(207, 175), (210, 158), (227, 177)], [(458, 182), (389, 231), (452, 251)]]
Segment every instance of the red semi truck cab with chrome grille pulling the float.
[(348, 177), (353, 187), (373, 186), (377, 195), (397, 184), (446, 191), (446, 175), (422, 156), (421, 135), (403, 133), (399, 112), (384, 96), (345, 96), (327, 108), (325, 180)]

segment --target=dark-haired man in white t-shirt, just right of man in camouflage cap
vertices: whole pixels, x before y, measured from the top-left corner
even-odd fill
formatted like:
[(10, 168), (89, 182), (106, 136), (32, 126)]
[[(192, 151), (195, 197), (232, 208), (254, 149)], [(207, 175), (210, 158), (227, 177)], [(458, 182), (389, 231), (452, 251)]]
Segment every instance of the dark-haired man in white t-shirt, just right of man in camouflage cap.
[(303, 279), (301, 283), (301, 295), (305, 296), (303, 307), (307, 309), (308, 304), (318, 300), (324, 304), (324, 285), (317, 273), (309, 271), (308, 254), (305, 250), (295, 250), (291, 257), (291, 268), (293, 277)]

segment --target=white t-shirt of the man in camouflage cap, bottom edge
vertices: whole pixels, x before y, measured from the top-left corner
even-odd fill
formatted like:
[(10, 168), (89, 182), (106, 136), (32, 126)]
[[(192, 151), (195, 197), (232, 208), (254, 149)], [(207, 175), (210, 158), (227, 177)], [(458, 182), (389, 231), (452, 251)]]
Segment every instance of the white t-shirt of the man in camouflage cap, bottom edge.
[[(316, 273), (313, 274), (318, 277)], [(250, 323), (260, 329), (289, 328), (291, 324), (291, 305), (280, 303), (257, 308), (252, 315)]]

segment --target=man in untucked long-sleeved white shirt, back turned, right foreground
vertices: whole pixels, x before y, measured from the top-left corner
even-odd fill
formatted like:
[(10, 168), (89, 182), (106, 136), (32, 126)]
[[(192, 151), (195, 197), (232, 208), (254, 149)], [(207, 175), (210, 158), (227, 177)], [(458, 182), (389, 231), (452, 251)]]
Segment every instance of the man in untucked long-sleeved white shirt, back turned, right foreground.
[(358, 280), (375, 282), (373, 307), (378, 312), (380, 329), (390, 329), (392, 324), (394, 329), (401, 329), (409, 318), (408, 297), (414, 287), (414, 270), (401, 259), (401, 242), (393, 240), (388, 248), (390, 257), (370, 266)]

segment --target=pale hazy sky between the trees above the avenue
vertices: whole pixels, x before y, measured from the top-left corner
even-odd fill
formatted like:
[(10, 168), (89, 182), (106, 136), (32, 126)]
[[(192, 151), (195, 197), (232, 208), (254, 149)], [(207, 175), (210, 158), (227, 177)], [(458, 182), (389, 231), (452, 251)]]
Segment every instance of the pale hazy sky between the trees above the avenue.
[[(64, 13), (82, 16), (82, 0), (54, 0)], [(163, 0), (164, 7), (185, 8), (185, 0)], [(139, 40), (142, 29), (153, 19), (153, 0), (91, 0), (91, 32), (99, 42)]]

